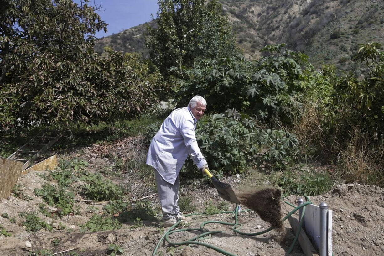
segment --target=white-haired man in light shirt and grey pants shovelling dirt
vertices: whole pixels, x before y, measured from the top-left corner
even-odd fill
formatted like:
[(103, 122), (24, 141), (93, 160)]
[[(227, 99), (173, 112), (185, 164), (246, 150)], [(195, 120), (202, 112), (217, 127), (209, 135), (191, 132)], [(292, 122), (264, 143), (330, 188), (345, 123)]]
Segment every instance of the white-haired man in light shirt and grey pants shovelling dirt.
[(196, 95), (188, 106), (178, 108), (164, 120), (149, 146), (146, 164), (155, 168), (157, 191), (163, 211), (164, 227), (170, 227), (179, 219), (190, 220), (180, 213), (179, 173), (188, 155), (202, 173), (208, 169), (197, 145), (196, 122), (204, 114), (207, 102)]

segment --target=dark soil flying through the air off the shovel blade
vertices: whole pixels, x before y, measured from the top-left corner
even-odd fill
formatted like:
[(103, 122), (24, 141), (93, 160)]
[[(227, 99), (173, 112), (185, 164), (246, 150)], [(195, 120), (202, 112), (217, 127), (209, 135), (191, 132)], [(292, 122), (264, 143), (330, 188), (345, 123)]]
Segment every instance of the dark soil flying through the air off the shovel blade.
[(281, 190), (276, 188), (261, 188), (236, 191), (241, 204), (254, 210), (263, 221), (281, 230)]

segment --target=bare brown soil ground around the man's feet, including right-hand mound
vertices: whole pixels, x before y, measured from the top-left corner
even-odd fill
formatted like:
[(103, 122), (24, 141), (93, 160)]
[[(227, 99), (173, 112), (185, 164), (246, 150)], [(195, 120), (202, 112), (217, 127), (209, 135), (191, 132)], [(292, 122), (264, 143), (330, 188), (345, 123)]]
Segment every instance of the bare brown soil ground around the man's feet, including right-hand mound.
[[(113, 158), (121, 156), (125, 161), (134, 159), (135, 154), (140, 151), (140, 139), (126, 138), (106, 145), (94, 145), (74, 151), (70, 155), (59, 155), (59, 159), (82, 157), (90, 163), (89, 171), (103, 172), (111, 170), (115, 165)], [(108, 157), (107, 157), (108, 156)], [(119, 244), (123, 249), (124, 256), (148, 256), (152, 254), (163, 231), (161, 214), (157, 214), (152, 220), (144, 221), (144, 225), (133, 228), (132, 222), (122, 223), (122, 228), (114, 231), (84, 232), (81, 225), (89, 220), (94, 212), (101, 212), (103, 205), (91, 205), (84, 201), (77, 201), (75, 208), (78, 214), (63, 216), (62, 218), (48, 218), (38, 211), (38, 205), (44, 203), (41, 197), (35, 196), (33, 190), (41, 188), (47, 181), (41, 175), (46, 171), (35, 171), (27, 173), (18, 180), (18, 185), (23, 193), (31, 198), (27, 201), (13, 194), (0, 201), (0, 215), (7, 213), (10, 218), (0, 217), (0, 225), (12, 236), (5, 237), (0, 234), (0, 255), (2, 256), (26, 256), (35, 255), (38, 249), (51, 249), (54, 253), (71, 248), (75, 250), (60, 255), (106, 255), (108, 244)], [(107, 172), (108, 173), (108, 172)], [(151, 175), (142, 177), (137, 170), (127, 170), (119, 176), (109, 176), (115, 183), (126, 188), (126, 198), (134, 203), (138, 198), (148, 196), (152, 206), (159, 208), (156, 188)], [(224, 182), (230, 183), (234, 188), (243, 184), (242, 176), (231, 176), (223, 178)], [(54, 183), (55, 181), (51, 181)], [(248, 184), (248, 186), (252, 184)], [(197, 211), (204, 211), (204, 202), (212, 200), (217, 204), (220, 199), (216, 190), (203, 179), (182, 181), (180, 194), (192, 196), (193, 202), (197, 204)], [(154, 194), (154, 195), (153, 195)], [(81, 198), (81, 194), (76, 194)], [(297, 195), (285, 198), (296, 204)], [(313, 203), (326, 202), (333, 210), (333, 252), (335, 256), (358, 256), (358, 255), (384, 255), (384, 189), (377, 186), (361, 186), (345, 184), (334, 188), (326, 194), (311, 197)], [(44, 203), (45, 204), (45, 203)], [(281, 203), (282, 213), (288, 213), (292, 207)], [(49, 209), (50, 206), (46, 205)], [(230, 208), (233, 209), (231, 204)], [(98, 208), (98, 211), (96, 210)], [(230, 210), (232, 210), (230, 209)], [(55, 209), (51, 209), (54, 211)], [(36, 233), (25, 231), (23, 219), (18, 213), (35, 211), (41, 219), (53, 225), (52, 231), (41, 229)], [(15, 223), (11, 223), (11, 217), (15, 217)], [(297, 215), (296, 215), (297, 218)], [(192, 217), (190, 223), (182, 224), (187, 228), (198, 228), (200, 224), (208, 220), (232, 222), (231, 214), (222, 213), (205, 216), (203, 214)], [(241, 231), (247, 233), (260, 232), (269, 228), (269, 223), (262, 221), (253, 211), (242, 213), (239, 222), (243, 224)], [(278, 233), (270, 231), (260, 236), (244, 236), (234, 233), (230, 226), (223, 224), (207, 224), (204, 226), (209, 230), (223, 230), (223, 233), (213, 234), (204, 243), (212, 244), (238, 256), (269, 256), (285, 255), (290, 247), (294, 235), (288, 221), (284, 223), (285, 232)], [(65, 228), (63, 228), (65, 226)], [(172, 241), (184, 241), (198, 234), (195, 231), (179, 232), (170, 235)], [(56, 239), (56, 240), (55, 240)], [(58, 241), (55, 246), (53, 240)], [(190, 245), (170, 247), (163, 242), (157, 255), (222, 255), (204, 246)], [(300, 246), (296, 244), (291, 256), (304, 256)]]

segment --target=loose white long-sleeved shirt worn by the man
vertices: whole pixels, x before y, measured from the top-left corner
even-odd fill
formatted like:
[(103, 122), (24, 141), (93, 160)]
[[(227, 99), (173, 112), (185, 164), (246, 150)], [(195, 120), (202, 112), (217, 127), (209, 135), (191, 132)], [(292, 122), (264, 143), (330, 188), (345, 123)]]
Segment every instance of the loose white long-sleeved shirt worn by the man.
[(175, 184), (188, 155), (199, 169), (207, 164), (197, 145), (196, 122), (188, 106), (178, 108), (167, 116), (151, 141), (146, 164), (171, 184)]

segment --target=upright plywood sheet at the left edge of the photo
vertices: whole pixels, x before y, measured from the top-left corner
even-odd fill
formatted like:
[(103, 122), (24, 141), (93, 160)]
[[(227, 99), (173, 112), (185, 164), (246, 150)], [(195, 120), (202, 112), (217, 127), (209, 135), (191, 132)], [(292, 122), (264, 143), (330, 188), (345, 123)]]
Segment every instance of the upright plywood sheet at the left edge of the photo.
[(0, 157), (0, 199), (11, 194), (22, 168), (22, 162)]

